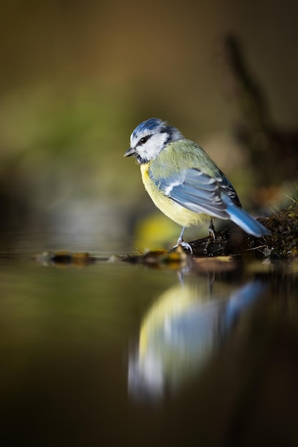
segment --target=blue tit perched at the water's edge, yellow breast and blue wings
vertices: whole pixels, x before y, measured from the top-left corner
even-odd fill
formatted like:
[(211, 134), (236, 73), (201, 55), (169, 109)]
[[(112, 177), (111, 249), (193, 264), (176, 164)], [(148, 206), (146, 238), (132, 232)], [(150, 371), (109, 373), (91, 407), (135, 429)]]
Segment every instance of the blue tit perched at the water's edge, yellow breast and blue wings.
[[(194, 141), (161, 119), (151, 118), (134, 129), (130, 148), (141, 167), (141, 179), (154, 204), (182, 226), (177, 246), (192, 251), (184, 242), (185, 228), (213, 218), (230, 219), (257, 237), (270, 231), (242, 209), (237, 193), (209, 155)], [(214, 236), (215, 238), (215, 236)]]

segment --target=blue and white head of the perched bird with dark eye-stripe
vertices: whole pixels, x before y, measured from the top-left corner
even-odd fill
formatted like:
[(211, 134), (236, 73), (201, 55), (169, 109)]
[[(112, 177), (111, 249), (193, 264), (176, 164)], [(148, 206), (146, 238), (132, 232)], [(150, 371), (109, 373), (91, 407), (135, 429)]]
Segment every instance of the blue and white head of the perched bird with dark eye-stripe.
[(124, 156), (135, 156), (139, 164), (148, 163), (157, 158), (159, 153), (172, 141), (184, 137), (175, 127), (159, 118), (143, 121), (130, 136), (130, 148)]

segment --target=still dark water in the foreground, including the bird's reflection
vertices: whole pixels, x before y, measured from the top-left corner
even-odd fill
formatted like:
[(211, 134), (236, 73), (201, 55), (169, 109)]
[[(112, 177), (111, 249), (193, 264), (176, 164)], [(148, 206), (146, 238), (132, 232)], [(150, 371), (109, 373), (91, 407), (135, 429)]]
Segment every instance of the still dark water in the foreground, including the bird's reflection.
[(298, 446), (297, 264), (34, 254), (0, 258), (1, 445)]

